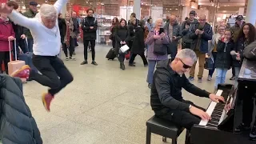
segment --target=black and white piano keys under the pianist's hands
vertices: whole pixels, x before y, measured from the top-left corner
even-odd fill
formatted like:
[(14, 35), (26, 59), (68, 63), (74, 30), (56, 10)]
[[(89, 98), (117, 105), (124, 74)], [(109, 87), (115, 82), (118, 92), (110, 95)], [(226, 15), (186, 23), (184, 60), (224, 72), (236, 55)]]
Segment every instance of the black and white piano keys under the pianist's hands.
[[(216, 95), (221, 96), (222, 92), (223, 90), (218, 90)], [(201, 122), (199, 123), (199, 126), (217, 127), (218, 124), (221, 122), (220, 119), (225, 115), (224, 106), (225, 106), (225, 103), (222, 103), (222, 102), (219, 102), (219, 103), (213, 102), (213, 101), (210, 102), (210, 106), (206, 110), (206, 113), (210, 115), (211, 120), (210, 122), (207, 120), (201, 120)]]

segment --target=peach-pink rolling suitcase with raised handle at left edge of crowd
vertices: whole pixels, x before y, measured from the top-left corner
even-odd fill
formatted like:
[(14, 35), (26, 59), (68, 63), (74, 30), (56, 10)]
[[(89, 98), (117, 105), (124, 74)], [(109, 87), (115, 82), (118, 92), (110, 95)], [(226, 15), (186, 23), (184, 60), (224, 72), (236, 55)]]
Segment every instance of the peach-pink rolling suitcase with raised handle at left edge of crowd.
[[(16, 70), (20, 70), (22, 68), (22, 66), (25, 66), (25, 62), (24, 61), (19, 61), (17, 60), (17, 54), (15, 54), (14, 56), (14, 61), (12, 61), (12, 57), (11, 57), (11, 42), (9, 40), (9, 50), (10, 50), (10, 62), (8, 62), (8, 74), (11, 75), (12, 73), (14, 73), (14, 71)], [(14, 49), (16, 51), (16, 39), (14, 39)], [(22, 82), (26, 82), (26, 78), (21, 78)]]

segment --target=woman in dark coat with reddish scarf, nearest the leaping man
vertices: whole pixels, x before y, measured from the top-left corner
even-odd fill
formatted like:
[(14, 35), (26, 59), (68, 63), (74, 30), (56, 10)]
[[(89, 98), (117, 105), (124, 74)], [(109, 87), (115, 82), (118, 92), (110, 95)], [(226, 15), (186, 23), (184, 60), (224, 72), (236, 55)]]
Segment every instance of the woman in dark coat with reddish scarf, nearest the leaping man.
[[(66, 61), (68, 60), (75, 60), (73, 56), (74, 53), (74, 23), (72, 19), (70, 18), (70, 14), (66, 13), (65, 14), (65, 21), (62, 21), (62, 35), (61, 37), (63, 38), (63, 43), (62, 43), (62, 49), (64, 51), (64, 54), (66, 55)], [(70, 58), (68, 57), (67, 50), (70, 52)]]

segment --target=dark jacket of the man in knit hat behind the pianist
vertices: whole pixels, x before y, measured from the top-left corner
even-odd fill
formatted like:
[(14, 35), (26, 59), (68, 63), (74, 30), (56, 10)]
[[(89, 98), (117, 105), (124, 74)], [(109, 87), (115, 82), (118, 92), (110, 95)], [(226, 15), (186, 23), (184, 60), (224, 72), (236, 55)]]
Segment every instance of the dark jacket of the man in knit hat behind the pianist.
[[(186, 25), (189, 23), (190, 29), (186, 29)], [(198, 25), (198, 20), (194, 19), (194, 22), (184, 21), (182, 22), (181, 31), (182, 31), (182, 42), (191, 43), (192, 39), (190, 39), (189, 35), (196, 30), (196, 26)]]

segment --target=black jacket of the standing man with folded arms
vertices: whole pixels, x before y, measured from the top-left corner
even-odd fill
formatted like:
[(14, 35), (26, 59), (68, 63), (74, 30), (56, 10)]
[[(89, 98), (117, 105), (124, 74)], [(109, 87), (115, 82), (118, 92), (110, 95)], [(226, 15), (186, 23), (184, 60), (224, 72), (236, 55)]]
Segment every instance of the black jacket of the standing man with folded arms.
[[(94, 26), (90, 29), (90, 26)], [(86, 17), (82, 20), (82, 30), (84, 40), (96, 40), (96, 31), (98, 29), (98, 22), (94, 17)]]

